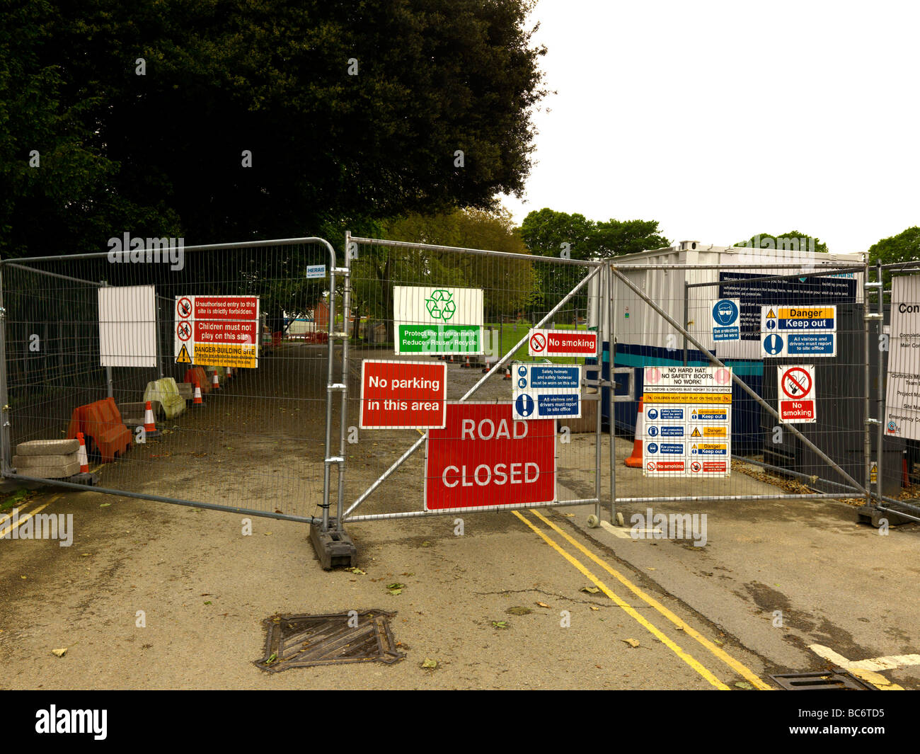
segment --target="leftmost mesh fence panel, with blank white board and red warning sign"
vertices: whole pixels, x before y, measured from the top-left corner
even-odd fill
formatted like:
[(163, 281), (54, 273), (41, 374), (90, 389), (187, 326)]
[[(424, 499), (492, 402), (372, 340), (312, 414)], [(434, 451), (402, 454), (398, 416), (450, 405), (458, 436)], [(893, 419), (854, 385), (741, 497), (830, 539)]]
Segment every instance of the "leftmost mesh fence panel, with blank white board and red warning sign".
[[(5, 472), (31, 476), (20, 444), (83, 431), (100, 489), (310, 520), (323, 500), (329, 280), (306, 268), (331, 270), (330, 248), (142, 245), (0, 268)], [(289, 337), (294, 321), (308, 331)]]

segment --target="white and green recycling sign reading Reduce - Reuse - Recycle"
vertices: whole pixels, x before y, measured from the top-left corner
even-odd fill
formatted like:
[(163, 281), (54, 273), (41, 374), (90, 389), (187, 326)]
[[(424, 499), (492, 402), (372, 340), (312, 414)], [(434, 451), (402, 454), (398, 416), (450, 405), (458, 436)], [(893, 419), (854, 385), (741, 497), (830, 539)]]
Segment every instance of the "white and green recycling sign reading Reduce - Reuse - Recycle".
[(481, 288), (393, 287), (397, 354), (484, 354)]

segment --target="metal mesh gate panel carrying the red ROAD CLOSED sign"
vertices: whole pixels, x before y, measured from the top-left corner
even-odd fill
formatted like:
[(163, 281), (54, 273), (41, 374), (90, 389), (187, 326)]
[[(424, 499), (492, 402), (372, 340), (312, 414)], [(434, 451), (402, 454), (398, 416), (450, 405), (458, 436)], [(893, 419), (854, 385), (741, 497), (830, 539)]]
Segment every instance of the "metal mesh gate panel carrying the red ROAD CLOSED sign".
[[(532, 328), (589, 332), (585, 281), (599, 264), (374, 239), (351, 243), (348, 516), (597, 500), (598, 389), (581, 390), (579, 418), (524, 421), (512, 412), (512, 396), (519, 368), (550, 361), (528, 354)], [(362, 364), (376, 361), (417, 364), (419, 372), (421, 365), (443, 365), (446, 425), (362, 429)], [(586, 366), (584, 357), (551, 361), (596, 377), (596, 364)], [(411, 412), (397, 401), (382, 404), (386, 409), (390, 427)]]

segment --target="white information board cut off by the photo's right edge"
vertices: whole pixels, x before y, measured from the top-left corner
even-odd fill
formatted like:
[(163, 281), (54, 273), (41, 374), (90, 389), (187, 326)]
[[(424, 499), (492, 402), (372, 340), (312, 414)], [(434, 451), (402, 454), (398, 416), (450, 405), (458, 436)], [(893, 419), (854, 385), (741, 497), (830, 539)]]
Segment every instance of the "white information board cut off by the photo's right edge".
[(920, 440), (920, 275), (891, 281), (885, 392), (885, 434)]

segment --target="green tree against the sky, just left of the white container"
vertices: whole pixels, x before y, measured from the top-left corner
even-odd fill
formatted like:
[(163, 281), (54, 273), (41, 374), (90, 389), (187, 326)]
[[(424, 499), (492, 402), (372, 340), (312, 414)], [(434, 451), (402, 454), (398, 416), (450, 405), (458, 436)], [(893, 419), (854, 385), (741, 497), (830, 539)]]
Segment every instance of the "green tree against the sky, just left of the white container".
[[(523, 218), (521, 236), (532, 254), (559, 257), (565, 254), (574, 260), (609, 259), (620, 254), (634, 254), (646, 249), (668, 246), (667, 238), (659, 235), (655, 220), (608, 220), (596, 222), (584, 215), (569, 215), (543, 208)], [(538, 265), (543, 308), (549, 311), (581, 282), (586, 274), (583, 267), (572, 268), (569, 274), (558, 274), (558, 265)], [(575, 296), (576, 311), (587, 307), (587, 292)]]

